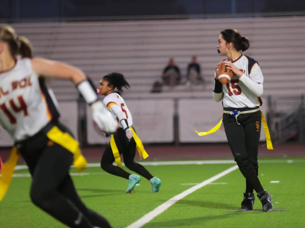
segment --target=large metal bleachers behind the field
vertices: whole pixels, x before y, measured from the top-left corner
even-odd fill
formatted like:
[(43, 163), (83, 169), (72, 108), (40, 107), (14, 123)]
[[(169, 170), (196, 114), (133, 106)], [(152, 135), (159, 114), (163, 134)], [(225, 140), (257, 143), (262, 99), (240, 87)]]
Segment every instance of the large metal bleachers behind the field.
[[(126, 98), (211, 97), (216, 45), (220, 31), (236, 28), (250, 40), (245, 52), (264, 74), (264, 95), (297, 95), (304, 91), (305, 17), (261, 17), (179, 20), (15, 23), (19, 35), (33, 43), (35, 56), (81, 68), (97, 85), (109, 72), (123, 73), (131, 85)], [(196, 55), (205, 84), (177, 86), (150, 93), (173, 57), (185, 77)], [(59, 100), (77, 99), (70, 81), (51, 80)]]

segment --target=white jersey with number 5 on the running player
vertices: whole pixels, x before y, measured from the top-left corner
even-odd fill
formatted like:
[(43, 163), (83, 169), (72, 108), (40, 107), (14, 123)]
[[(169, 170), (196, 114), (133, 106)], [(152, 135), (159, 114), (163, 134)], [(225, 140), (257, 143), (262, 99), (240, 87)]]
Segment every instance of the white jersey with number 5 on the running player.
[[(111, 108), (110, 108), (112, 105), (117, 105), (122, 110), (122, 112), (124, 112), (128, 125), (132, 126), (131, 113), (130, 113), (129, 109), (127, 108), (127, 105), (126, 105), (124, 99), (119, 94), (117, 94), (117, 93), (109, 94), (104, 98), (103, 102), (107, 106), (107, 108), (109, 108), (109, 110), (111, 111), (114, 118), (116, 118), (118, 120), (117, 114), (115, 112), (113, 112), (113, 110), (111, 110)], [(122, 127), (121, 123), (119, 123), (119, 127)]]

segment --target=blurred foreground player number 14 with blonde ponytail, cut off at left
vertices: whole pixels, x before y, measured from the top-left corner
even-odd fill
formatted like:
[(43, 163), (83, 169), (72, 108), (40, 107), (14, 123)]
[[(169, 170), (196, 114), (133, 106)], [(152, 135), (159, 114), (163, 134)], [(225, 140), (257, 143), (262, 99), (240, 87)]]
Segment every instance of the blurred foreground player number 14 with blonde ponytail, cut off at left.
[[(60, 62), (31, 58), (31, 53), (26, 39), (18, 37), (12, 27), (0, 25), (0, 124), (29, 167), (31, 200), (67, 226), (111, 227), (77, 195), (68, 171), (73, 160), (76, 167), (84, 167), (86, 162), (70, 131), (59, 123), (56, 106), (38, 75), (73, 81), (101, 129), (115, 132), (117, 121), (98, 101), (84, 72)], [(18, 55), (22, 58), (17, 59)]]

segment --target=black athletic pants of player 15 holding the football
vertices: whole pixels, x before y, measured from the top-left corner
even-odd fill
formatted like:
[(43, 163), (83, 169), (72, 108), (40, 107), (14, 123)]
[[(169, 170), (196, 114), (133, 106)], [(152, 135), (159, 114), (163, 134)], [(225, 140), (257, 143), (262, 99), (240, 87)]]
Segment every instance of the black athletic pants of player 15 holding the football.
[[(224, 108), (226, 111), (248, 111), (255, 108)], [(263, 187), (260, 184), (258, 175), (258, 144), (260, 140), (261, 130), (261, 112), (252, 112), (246, 114), (240, 114), (237, 117), (237, 124), (235, 116), (224, 113), (223, 123), (224, 130), (230, 145), (231, 151), (234, 156), (239, 170), (246, 178), (246, 192), (253, 192), (253, 188), (256, 192), (263, 191)]]

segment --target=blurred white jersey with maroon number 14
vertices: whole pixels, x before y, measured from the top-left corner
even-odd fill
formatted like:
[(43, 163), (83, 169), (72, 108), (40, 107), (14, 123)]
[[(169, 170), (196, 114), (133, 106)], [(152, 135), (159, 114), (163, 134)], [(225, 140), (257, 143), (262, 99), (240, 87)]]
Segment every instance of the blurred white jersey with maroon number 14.
[(20, 141), (38, 133), (58, 118), (43, 79), (33, 71), (30, 59), (21, 59), (14, 68), (0, 73), (0, 124)]

